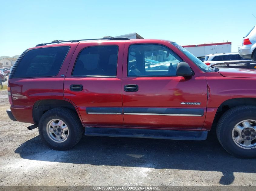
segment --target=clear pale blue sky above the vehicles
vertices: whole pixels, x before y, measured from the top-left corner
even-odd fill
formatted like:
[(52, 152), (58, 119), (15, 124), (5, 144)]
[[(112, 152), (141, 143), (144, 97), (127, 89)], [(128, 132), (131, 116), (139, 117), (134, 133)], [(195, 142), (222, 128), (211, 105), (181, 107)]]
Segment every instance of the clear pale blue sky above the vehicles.
[(0, 56), (52, 40), (133, 32), (180, 45), (229, 41), (237, 52), (256, 25), (255, 0), (0, 0), (0, 7)]

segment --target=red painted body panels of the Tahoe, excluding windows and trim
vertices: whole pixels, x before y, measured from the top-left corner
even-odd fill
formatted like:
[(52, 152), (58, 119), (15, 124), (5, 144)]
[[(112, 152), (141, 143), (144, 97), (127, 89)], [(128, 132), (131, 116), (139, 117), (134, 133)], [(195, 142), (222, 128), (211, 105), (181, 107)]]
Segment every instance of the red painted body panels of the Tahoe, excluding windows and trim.
[[(128, 47), (134, 43), (156, 43), (169, 47), (190, 65), (195, 75), (190, 79), (178, 76), (127, 77)], [(58, 75), (44, 78), (9, 79), (13, 100), (11, 110), (18, 121), (34, 123), (32, 109), (35, 102), (45, 99), (58, 99), (68, 100), (75, 106), (84, 126), (210, 130), (221, 103), (232, 98), (255, 97), (256, 95), (256, 85), (254, 85), (256, 74), (253, 70), (223, 68), (219, 72), (204, 73), (170, 41), (147, 39), (103, 40), (48, 46), (67, 45), (71, 48)], [(98, 45), (117, 45), (119, 47), (117, 77), (71, 76), (73, 65), (81, 49)], [(61, 75), (65, 76), (61, 77)], [(83, 91), (70, 91), (69, 86), (71, 84), (82, 84)], [(125, 92), (123, 87), (126, 84), (137, 84), (139, 91)], [(181, 102), (200, 102), (201, 105), (181, 105)], [(202, 117), (95, 115), (87, 114), (86, 107), (201, 108), (204, 110), (204, 115)]]

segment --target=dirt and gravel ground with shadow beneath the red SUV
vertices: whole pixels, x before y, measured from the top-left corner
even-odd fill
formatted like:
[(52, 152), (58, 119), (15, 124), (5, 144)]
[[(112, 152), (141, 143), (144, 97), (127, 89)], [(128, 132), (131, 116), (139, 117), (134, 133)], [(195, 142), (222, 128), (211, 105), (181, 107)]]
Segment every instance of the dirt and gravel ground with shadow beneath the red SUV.
[(38, 129), (11, 121), (0, 91), (0, 185), (247, 185), (256, 159), (228, 154), (214, 132), (206, 141), (83, 137), (69, 151), (45, 146)]

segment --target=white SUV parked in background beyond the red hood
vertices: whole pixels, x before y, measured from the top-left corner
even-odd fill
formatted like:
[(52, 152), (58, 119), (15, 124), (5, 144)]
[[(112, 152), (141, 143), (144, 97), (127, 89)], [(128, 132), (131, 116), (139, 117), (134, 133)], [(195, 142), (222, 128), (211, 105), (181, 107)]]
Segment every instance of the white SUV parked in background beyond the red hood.
[(223, 62), (244, 62), (251, 59), (241, 58), (238, 53), (217, 53), (205, 55), (204, 63), (206, 65), (213, 65)]

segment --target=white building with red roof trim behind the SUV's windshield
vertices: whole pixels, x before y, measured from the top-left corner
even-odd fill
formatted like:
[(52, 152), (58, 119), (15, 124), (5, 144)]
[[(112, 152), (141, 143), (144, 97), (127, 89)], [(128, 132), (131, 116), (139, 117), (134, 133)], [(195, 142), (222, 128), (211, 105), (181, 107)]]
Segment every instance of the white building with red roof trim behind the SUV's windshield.
[(204, 57), (207, 54), (231, 53), (231, 42), (185, 45), (182, 47), (198, 58)]

